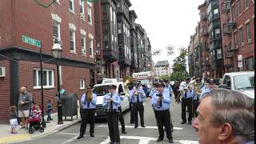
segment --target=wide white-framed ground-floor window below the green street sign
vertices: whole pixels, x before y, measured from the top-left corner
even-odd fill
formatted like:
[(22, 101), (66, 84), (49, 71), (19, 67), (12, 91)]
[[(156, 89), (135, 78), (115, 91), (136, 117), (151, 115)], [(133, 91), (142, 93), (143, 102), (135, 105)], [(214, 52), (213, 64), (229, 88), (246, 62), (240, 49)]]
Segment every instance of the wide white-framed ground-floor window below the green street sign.
[[(41, 70), (33, 70), (34, 89), (41, 88)], [(54, 70), (42, 70), (43, 88), (54, 88)]]

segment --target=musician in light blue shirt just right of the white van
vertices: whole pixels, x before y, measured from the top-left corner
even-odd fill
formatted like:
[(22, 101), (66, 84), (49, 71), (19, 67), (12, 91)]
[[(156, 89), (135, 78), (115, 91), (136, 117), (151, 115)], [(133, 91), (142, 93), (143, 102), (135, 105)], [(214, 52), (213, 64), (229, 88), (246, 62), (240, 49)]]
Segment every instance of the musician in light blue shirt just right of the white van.
[(138, 127), (138, 112), (141, 119), (141, 126), (144, 126), (144, 106), (143, 102), (146, 100), (146, 94), (144, 91), (138, 87), (138, 84), (135, 83), (135, 89), (131, 92), (130, 100), (133, 102), (133, 109), (134, 109), (134, 128)]

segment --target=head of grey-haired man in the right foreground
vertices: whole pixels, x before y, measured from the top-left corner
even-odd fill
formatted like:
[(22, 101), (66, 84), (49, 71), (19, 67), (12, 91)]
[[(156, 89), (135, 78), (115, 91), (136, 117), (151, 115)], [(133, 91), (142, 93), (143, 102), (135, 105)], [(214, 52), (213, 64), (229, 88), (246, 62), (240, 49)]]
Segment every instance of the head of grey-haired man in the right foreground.
[(253, 144), (254, 99), (226, 89), (204, 94), (193, 127), (200, 144)]

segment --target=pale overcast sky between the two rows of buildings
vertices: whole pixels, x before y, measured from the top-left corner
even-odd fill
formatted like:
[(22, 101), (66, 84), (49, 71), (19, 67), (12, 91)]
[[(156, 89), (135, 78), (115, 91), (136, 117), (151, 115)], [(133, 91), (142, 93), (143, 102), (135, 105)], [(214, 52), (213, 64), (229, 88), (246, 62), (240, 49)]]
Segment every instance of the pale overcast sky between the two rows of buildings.
[[(198, 6), (204, 0), (130, 0), (130, 10), (135, 10), (135, 22), (142, 25), (150, 38), (152, 50), (161, 49), (161, 56), (153, 61), (168, 60), (173, 64), (178, 47), (190, 45), (190, 35), (195, 33), (199, 21)], [(175, 47), (174, 55), (167, 56), (166, 46)]]

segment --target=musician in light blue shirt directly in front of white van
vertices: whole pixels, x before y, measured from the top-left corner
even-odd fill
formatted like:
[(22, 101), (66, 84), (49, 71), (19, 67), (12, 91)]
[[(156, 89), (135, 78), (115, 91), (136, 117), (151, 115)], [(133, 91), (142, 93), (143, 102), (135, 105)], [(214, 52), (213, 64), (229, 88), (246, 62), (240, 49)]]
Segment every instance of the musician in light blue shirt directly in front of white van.
[(115, 92), (116, 88), (117, 86), (114, 85), (109, 86), (109, 93), (104, 95), (102, 106), (106, 110), (106, 119), (110, 132), (110, 143), (116, 142), (120, 144), (120, 135), (118, 129), (118, 107), (120, 106), (121, 99)]

